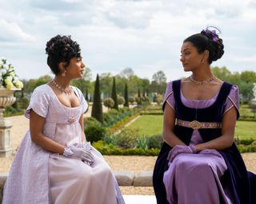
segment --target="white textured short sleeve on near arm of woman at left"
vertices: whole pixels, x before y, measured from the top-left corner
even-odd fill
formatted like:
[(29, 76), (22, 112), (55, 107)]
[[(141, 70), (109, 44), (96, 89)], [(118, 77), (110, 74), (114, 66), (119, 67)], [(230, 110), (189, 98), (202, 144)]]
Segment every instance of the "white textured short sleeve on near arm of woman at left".
[(50, 94), (47, 92), (46, 84), (38, 86), (34, 89), (30, 97), (30, 104), (26, 108), (25, 116), (30, 118), (30, 111), (33, 109), (35, 113), (39, 116), (46, 118), (48, 113), (48, 108), (50, 104)]

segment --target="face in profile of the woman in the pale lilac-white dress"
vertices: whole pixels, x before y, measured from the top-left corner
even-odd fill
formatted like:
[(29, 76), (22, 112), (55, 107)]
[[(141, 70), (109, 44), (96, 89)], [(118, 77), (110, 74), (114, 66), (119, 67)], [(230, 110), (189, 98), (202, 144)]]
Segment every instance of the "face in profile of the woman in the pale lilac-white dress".
[(70, 65), (66, 67), (66, 76), (71, 79), (78, 79), (83, 77), (84, 68), (86, 65), (82, 62), (82, 57), (72, 57), (70, 59)]

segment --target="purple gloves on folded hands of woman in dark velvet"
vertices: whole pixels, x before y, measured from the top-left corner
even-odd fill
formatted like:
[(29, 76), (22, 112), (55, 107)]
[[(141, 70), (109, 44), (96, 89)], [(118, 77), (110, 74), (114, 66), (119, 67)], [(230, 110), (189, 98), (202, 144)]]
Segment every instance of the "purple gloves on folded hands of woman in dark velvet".
[(194, 145), (186, 146), (186, 145), (175, 145), (170, 151), (167, 156), (167, 160), (171, 163), (174, 158), (181, 153), (188, 153), (188, 154), (195, 154), (197, 153)]

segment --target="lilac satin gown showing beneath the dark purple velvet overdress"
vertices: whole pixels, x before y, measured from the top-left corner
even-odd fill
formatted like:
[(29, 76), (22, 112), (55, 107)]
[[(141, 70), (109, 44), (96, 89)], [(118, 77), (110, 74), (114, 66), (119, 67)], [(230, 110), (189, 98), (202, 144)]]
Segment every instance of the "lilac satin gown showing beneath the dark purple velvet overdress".
[[(210, 100), (189, 100), (181, 92), (182, 103), (189, 108), (209, 107), (217, 99), (217, 96), (218, 94)], [(174, 109), (175, 101), (172, 91), (166, 97), (166, 102)], [(233, 106), (238, 108), (238, 88), (236, 86), (231, 88), (230, 95), (224, 104), (224, 114)], [(197, 143), (202, 143), (202, 138), (199, 131), (194, 130), (190, 144)], [(222, 186), (219, 179), (226, 169), (225, 160), (215, 150), (211, 150), (211, 153), (208, 154), (182, 153), (177, 155), (163, 176), (168, 202), (215, 204), (223, 200), (225, 203), (233, 203), (230, 189)]]

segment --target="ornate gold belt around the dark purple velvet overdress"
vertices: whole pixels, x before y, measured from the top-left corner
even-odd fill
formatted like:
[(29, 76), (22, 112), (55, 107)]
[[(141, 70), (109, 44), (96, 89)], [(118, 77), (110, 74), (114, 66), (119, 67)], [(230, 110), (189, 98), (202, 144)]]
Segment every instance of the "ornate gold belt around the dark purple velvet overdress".
[(199, 122), (198, 120), (185, 121), (177, 119), (177, 125), (198, 130), (200, 128), (222, 128), (222, 123)]

